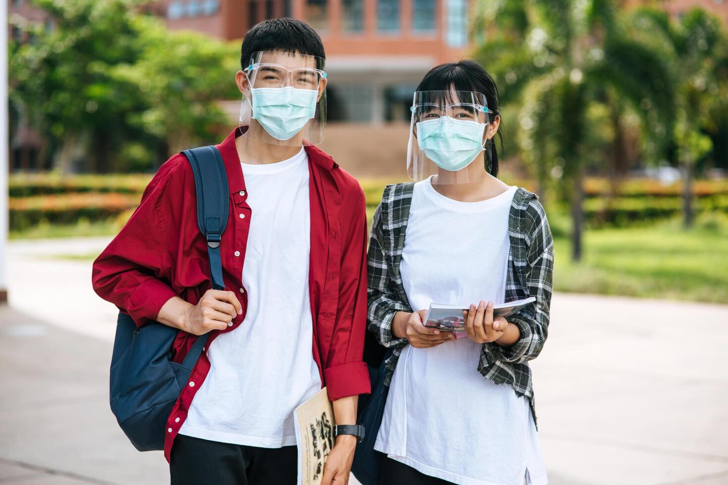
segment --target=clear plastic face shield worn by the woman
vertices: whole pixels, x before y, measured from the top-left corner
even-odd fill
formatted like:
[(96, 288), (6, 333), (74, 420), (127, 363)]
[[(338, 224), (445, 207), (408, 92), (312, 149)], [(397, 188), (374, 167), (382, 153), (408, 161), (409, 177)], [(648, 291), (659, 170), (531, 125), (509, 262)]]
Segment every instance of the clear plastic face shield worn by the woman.
[(456, 184), (487, 177), (483, 151), (494, 133), (485, 95), (418, 91), (410, 109), (407, 174), (412, 180), (435, 175), (433, 184)]

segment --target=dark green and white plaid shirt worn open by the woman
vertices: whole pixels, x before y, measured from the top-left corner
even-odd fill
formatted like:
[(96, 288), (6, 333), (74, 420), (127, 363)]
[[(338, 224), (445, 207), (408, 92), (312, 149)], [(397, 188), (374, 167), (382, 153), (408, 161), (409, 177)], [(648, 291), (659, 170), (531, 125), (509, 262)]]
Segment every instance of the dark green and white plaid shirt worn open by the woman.
[[(392, 349), (387, 358), (389, 385), (406, 339), (392, 335), (392, 319), (397, 311), (413, 311), (407, 300), (400, 275), (414, 183), (387, 185), (381, 204), (374, 212), (368, 251), (368, 329), (379, 343)], [(530, 296), (536, 302), (526, 305), (509, 318), (518, 325), (521, 338), (509, 348), (495, 342), (483, 344), (478, 372), (498, 384), (513, 387), (526, 396), (534, 412), (534, 390), (528, 361), (536, 358), (546, 341), (551, 281), (553, 278), (553, 239), (542, 205), (534, 193), (518, 188), (508, 217), (510, 252), (505, 286), (505, 301)], [(536, 414), (534, 412), (534, 421)]]

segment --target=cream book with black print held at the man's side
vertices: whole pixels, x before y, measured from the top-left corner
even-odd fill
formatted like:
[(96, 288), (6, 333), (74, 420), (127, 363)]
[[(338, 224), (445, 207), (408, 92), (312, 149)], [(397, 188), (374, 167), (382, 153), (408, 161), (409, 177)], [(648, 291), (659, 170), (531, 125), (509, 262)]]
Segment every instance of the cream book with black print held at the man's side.
[(320, 485), (333, 448), (333, 406), (326, 388), (293, 409), (298, 446), (298, 485)]

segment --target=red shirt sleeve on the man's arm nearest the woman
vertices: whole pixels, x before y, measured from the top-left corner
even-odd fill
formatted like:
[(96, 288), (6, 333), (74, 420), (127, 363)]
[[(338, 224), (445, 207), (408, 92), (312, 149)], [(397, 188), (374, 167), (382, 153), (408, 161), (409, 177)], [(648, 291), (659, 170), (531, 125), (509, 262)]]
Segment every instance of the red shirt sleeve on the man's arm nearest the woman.
[(363, 361), (366, 332), (366, 208), (359, 188), (341, 252), (339, 304), (331, 348), (323, 369), (328, 398), (371, 392), (369, 371)]

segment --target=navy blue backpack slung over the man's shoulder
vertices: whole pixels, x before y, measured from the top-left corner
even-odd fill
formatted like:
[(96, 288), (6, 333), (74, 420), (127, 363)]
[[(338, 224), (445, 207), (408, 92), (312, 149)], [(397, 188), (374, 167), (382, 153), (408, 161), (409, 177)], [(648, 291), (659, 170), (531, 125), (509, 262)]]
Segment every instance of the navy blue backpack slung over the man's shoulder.
[[(228, 181), (214, 146), (183, 151), (194, 174), (197, 225), (207, 239), (213, 289), (224, 289), (220, 240), (228, 220)], [(109, 401), (124, 433), (141, 452), (164, 449), (167, 417), (207, 342), (200, 335), (181, 364), (172, 361), (178, 329), (150, 322), (137, 328), (119, 312), (111, 356)]]

